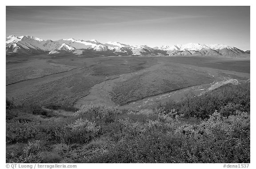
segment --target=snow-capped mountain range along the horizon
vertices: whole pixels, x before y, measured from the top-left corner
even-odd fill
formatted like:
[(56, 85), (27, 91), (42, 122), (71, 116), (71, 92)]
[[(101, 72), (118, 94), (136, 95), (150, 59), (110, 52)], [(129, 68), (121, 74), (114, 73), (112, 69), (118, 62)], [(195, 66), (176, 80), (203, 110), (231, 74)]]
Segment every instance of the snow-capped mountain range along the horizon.
[(223, 44), (188, 43), (174, 46), (148, 47), (146, 45), (132, 46), (119, 42), (100, 43), (96, 39), (76, 40), (60, 39), (56, 41), (43, 40), (33, 36), (10, 35), (6, 38), (6, 54), (49, 55), (73, 53), (75, 55), (166, 55), (166, 56), (225, 56), (249, 57), (250, 51), (242, 51), (236, 47)]

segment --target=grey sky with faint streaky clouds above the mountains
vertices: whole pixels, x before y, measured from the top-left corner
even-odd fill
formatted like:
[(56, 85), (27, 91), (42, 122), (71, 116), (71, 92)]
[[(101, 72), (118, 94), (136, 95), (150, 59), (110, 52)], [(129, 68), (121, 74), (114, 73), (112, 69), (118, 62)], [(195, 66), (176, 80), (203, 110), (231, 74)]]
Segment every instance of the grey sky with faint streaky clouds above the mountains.
[(6, 36), (250, 50), (250, 6), (6, 6)]

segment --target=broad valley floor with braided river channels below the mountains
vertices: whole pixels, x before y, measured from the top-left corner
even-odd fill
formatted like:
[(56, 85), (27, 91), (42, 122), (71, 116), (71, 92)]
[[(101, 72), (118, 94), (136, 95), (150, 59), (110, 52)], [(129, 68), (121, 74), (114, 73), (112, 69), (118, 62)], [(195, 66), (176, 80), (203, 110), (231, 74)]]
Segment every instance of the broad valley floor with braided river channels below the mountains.
[(16, 104), (68, 102), (143, 109), (200, 94), (216, 82), (250, 79), (249, 59), (212, 57), (6, 58), (6, 97)]

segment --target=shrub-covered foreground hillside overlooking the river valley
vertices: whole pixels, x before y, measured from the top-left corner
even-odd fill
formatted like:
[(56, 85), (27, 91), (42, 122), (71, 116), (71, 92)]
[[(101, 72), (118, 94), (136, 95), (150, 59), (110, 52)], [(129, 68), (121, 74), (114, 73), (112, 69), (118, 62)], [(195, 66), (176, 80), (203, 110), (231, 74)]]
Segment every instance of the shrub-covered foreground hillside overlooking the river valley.
[(152, 110), (75, 110), (6, 101), (6, 162), (250, 163), (249, 82)]

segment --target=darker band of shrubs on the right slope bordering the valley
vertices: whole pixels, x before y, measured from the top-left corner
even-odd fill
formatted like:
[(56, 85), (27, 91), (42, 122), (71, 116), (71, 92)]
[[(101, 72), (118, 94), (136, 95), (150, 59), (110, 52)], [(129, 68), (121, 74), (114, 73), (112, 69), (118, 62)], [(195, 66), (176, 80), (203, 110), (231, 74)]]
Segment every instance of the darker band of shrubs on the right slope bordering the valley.
[(168, 102), (156, 109), (168, 114), (173, 109), (178, 115), (208, 119), (215, 110), (222, 115), (232, 115), (235, 110), (250, 110), (250, 83), (236, 86), (225, 86), (201, 96), (187, 94), (180, 102)]

